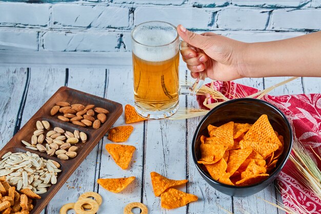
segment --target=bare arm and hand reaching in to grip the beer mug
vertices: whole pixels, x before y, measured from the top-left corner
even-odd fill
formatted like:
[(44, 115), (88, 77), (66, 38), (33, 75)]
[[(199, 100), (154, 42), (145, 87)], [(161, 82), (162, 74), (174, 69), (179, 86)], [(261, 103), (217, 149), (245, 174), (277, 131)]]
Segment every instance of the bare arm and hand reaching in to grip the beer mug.
[(321, 76), (321, 31), (273, 42), (244, 43), (215, 33), (196, 34), (177, 26), (183, 60), (197, 77)]

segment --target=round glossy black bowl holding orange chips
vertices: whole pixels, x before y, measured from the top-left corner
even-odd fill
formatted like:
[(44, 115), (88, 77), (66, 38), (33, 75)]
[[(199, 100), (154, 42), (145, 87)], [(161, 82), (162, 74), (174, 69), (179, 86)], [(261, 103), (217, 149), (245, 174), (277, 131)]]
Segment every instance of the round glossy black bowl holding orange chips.
[[(253, 124), (262, 114), (268, 115), (268, 119), (273, 129), (284, 138), (284, 151), (282, 155), (280, 155), (276, 167), (270, 173), (270, 176), (260, 183), (249, 186), (230, 186), (212, 179), (212, 177), (202, 169), (200, 164), (197, 163), (197, 160), (200, 159), (200, 136), (208, 136), (207, 126), (209, 124), (220, 126), (230, 121), (235, 123)], [(192, 154), (198, 172), (207, 183), (218, 191), (230, 196), (245, 197), (259, 192), (275, 180), (289, 158), (292, 149), (292, 141), (292, 130), (289, 121), (278, 108), (262, 100), (250, 98), (235, 99), (213, 108), (205, 115), (194, 133)]]

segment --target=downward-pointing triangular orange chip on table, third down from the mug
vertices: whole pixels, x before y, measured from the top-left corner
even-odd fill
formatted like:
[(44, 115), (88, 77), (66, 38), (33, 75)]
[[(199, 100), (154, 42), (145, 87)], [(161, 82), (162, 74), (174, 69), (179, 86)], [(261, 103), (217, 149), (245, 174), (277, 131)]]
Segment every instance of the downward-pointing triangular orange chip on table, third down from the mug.
[(136, 148), (128, 145), (106, 144), (106, 150), (118, 166), (127, 169)]

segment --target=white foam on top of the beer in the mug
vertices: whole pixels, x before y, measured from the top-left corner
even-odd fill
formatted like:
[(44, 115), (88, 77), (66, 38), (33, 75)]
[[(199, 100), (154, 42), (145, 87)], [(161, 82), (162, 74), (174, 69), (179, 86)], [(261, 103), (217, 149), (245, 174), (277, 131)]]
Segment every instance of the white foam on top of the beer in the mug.
[(166, 61), (174, 57), (178, 52), (178, 41), (167, 45), (173, 42), (176, 38), (176, 34), (171, 32), (166, 32), (161, 29), (146, 29), (136, 32), (133, 36), (138, 43), (143, 44), (133, 44), (134, 54), (142, 60), (151, 62)]

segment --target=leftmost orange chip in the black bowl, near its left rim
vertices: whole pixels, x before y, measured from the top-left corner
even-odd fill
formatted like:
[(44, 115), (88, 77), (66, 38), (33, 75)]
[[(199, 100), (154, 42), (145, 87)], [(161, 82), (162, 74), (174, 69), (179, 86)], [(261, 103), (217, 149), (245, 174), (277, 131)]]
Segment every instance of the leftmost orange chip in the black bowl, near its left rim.
[(222, 144), (200, 144), (202, 158), (197, 161), (200, 164), (214, 164), (223, 158), (227, 146)]

